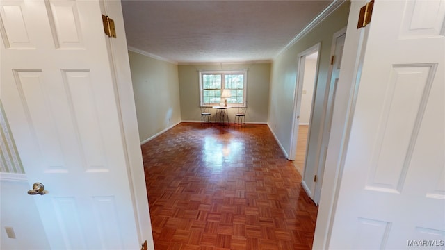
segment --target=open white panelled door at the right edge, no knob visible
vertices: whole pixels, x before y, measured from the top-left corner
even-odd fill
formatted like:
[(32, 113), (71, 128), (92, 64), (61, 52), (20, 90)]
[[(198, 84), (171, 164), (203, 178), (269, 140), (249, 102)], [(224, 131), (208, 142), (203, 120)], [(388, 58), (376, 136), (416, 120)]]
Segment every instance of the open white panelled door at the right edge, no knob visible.
[(444, 17), (443, 0), (375, 1), (330, 249), (444, 248)]

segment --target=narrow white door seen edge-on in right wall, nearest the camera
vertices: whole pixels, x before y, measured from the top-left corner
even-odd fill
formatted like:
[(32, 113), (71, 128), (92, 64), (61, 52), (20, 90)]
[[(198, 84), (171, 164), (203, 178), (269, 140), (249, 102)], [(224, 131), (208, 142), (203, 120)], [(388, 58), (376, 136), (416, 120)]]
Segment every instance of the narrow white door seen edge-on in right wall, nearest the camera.
[[(345, 44), (346, 30), (334, 34), (334, 53), (332, 60), (332, 72), (330, 77), (329, 92), (327, 92), (325, 121), (323, 122), (323, 135), (321, 139), (320, 158), (318, 161), (317, 178), (315, 180), (314, 202), (320, 202), (321, 185), (323, 184), (323, 173), (325, 171), (327, 145), (331, 135), (332, 112), (334, 111), (335, 92), (339, 81), (341, 68), (341, 56), (343, 56), (343, 47)], [(315, 178), (314, 178), (315, 179)]]

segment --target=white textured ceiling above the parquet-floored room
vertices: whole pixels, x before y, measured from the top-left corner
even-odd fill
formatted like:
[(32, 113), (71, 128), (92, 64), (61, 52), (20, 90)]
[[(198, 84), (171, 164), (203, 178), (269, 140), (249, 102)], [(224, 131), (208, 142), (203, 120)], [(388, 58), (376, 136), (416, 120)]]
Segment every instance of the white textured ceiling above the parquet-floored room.
[(122, 10), (130, 49), (174, 63), (272, 60), (332, 0), (133, 1)]

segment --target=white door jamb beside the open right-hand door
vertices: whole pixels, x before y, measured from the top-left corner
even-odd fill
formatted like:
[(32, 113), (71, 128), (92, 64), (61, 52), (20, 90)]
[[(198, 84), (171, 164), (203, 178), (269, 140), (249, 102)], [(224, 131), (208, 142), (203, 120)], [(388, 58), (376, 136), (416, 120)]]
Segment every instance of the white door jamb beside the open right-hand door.
[[(349, 20), (359, 19), (359, 8), (367, 1), (351, 4)], [(335, 209), (341, 185), (344, 160), (348, 150), (350, 126), (357, 99), (358, 85), (362, 72), (364, 47), (369, 28), (357, 29), (356, 22), (348, 22), (342, 69), (337, 87), (335, 110), (332, 113), (331, 137), (327, 150), (323, 185), (318, 207), (313, 249), (329, 249)], [(350, 32), (352, 31), (352, 32)]]

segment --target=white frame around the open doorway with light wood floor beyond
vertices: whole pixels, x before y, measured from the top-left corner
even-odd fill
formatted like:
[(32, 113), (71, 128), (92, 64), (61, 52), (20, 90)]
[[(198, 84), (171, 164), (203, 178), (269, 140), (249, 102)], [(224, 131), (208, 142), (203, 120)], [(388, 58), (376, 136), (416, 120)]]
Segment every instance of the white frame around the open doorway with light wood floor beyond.
[[(317, 88), (317, 80), (318, 80), (318, 61), (320, 60), (320, 49), (321, 43), (315, 44), (314, 46), (302, 51), (298, 54), (298, 64), (297, 64), (297, 81), (295, 92), (293, 92), (293, 116), (292, 116), (292, 131), (291, 131), (291, 149), (289, 151), (288, 160), (295, 160), (296, 157), (296, 149), (297, 149), (297, 141), (298, 141), (298, 126), (300, 122), (298, 121), (300, 116), (300, 105), (301, 105), (301, 95), (303, 90), (303, 80), (304, 80), (304, 72), (305, 72), (305, 58), (310, 54), (318, 51), (317, 65), (316, 65), (316, 74), (315, 74), (315, 83), (314, 83), (314, 92), (312, 94), (312, 107), (311, 107), (311, 117), (309, 118), (309, 130), (308, 134), (311, 133), (311, 124), (312, 124), (312, 116), (314, 115), (314, 95), (316, 93)], [(307, 139), (307, 149), (309, 147), (309, 138)], [(307, 153), (306, 153), (307, 154)], [(306, 165), (306, 160), (305, 160)], [(305, 167), (306, 168), (306, 167)]]

